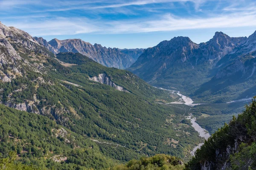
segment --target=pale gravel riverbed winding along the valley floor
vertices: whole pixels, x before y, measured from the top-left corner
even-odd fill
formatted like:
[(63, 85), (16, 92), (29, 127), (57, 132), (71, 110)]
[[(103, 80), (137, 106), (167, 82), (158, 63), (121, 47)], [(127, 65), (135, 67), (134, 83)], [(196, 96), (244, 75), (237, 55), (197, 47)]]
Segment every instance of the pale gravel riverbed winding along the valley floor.
[[(193, 100), (187, 96), (184, 96), (183, 94), (180, 94), (180, 91), (173, 91), (173, 90), (168, 90), (165, 88), (159, 88), (162, 90), (166, 90), (166, 91), (171, 91), (172, 93), (176, 93), (177, 95), (181, 96), (181, 98), (177, 101), (177, 102), (171, 102), (171, 103), (166, 103), (166, 104), (185, 104), (185, 105), (189, 105), (189, 106), (195, 106), (195, 105), (201, 105), (201, 104), (193, 104)], [(187, 116), (186, 119), (189, 119), (190, 122), (192, 123), (192, 127), (194, 127), (195, 131), (197, 131), (199, 133), (199, 136), (201, 136), (204, 139), (208, 139), (210, 137), (210, 134), (207, 133), (207, 130), (205, 130), (204, 128), (202, 128), (200, 125), (198, 125), (196, 121), (196, 117), (192, 118), (192, 114), (190, 114), (189, 116)], [(199, 149), (204, 143), (200, 143), (198, 144), (198, 146), (194, 147), (194, 149), (190, 152), (192, 156), (195, 156), (195, 151), (197, 149)]]

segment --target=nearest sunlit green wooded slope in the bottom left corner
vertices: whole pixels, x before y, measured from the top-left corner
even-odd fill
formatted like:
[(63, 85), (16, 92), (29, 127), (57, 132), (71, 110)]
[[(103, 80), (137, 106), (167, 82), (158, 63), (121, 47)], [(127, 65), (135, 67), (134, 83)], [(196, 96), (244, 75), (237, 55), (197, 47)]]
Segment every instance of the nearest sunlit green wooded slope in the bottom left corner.
[[(15, 167), (16, 163), (17, 166), (23, 163), (33, 168), (65, 170), (104, 169), (114, 164), (112, 159), (102, 155), (93, 141), (65, 130), (45, 116), (17, 111), (3, 105), (0, 105), (0, 116), (3, 166), (11, 164)], [(15, 150), (17, 154), (14, 156)], [(9, 156), (10, 153), (12, 156)], [(54, 161), (58, 155), (64, 158), (63, 161)], [(14, 161), (16, 156), (18, 161)]]

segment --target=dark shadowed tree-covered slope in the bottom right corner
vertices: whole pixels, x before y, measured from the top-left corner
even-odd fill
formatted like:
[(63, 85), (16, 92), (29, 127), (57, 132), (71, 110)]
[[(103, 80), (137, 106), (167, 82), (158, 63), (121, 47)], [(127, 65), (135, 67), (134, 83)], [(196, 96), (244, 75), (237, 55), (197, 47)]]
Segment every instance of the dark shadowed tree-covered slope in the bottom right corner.
[(256, 169), (256, 97), (204, 143), (186, 170)]

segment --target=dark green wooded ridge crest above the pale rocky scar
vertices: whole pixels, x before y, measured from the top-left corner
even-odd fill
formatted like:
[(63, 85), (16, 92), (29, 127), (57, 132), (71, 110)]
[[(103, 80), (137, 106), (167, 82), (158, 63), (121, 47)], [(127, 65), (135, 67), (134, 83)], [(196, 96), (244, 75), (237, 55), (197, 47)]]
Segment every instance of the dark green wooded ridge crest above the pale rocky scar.
[(111, 77), (112, 81), (115, 82), (116, 85), (124, 87), (126, 90), (137, 96), (144, 98), (156, 98), (157, 96), (162, 96), (164, 94), (164, 91), (148, 85), (142, 79), (129, 71), (105, 67), (79, 53), (59, 53), (56, 57), (62, 62), (78, 63), (79, 65), (73, 65), (68, 74), (63, 75), (62, 71), (52, 73), (55, 74), (55, 77), (72, 80), (72, 82), (75, 81), (80, 84), (88, 82), (87, 79), (83, 79), (84, 77), (94, 77), (105, 73)]

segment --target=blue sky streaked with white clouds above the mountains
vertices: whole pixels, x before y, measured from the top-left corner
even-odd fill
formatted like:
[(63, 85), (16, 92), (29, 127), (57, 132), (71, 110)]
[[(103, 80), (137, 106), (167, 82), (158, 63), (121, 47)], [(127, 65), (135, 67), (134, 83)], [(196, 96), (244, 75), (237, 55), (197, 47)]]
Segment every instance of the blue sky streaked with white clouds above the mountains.
[(48, 41), (148, 48), (177, 36), (206, 42), (215, 31), (248, 37), (256, 30), (256, 1), (0, 0), (0, 21)]

